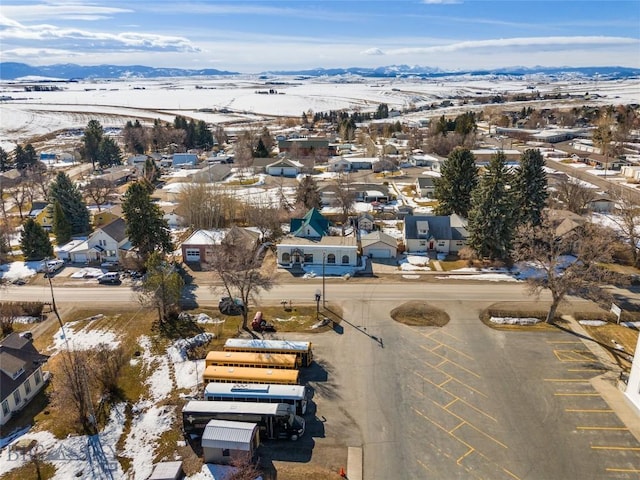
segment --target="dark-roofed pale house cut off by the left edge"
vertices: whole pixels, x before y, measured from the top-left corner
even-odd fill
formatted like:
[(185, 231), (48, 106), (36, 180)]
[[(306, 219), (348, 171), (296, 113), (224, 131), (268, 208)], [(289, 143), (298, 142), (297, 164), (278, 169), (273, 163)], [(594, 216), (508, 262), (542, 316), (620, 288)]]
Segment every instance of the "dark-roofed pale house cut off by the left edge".
[(31, 335), (12, 333), (0, 341), (0, 425), (6, 424), (42, 390), (49, 357), (33, 346)]

